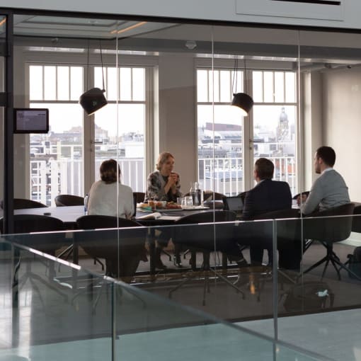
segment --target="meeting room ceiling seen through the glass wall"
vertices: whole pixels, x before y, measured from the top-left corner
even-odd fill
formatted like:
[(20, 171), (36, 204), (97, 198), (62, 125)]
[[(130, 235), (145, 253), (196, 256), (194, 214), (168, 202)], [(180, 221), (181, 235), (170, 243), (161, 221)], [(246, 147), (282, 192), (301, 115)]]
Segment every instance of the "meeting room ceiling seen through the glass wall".
[[(64, 47), (74, 40), (73, 47), (84, 47), (84, 39), (100, 39), (105, 40), (102, 42), (104, 47), (114, 47), (114, 40), (118, 39), (122, 49), (148, 54), (190, 51), (199, 56), (212, 53), (234, 57), (239, 54), (248, 59), (295, 62), (299, 50), (297, 44), (300, 43), (302, 62), (306, 63), (307, 69), (314, 64), (315, 69), (329, 70), (361, 63), (361, 35), (317, 34), (277, 28), (14, 15), (14, 35), (22, 39), (23, 42), (18, 42), (21, 45), (31, 42), (33, 45)], [(46, 42), (50, 45), (45, 45)], [(189, 43), (195, 46), (188, 47)], [(332, 65), (325, 67), (324, 64)]]

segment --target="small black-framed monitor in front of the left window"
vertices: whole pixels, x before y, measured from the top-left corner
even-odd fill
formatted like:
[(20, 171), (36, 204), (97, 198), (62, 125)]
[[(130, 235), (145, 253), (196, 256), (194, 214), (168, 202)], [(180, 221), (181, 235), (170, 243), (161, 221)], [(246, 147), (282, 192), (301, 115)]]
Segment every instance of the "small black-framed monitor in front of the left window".
[(14, 133), (49, 132), (49, 109), (16, 108), (14, 109)]

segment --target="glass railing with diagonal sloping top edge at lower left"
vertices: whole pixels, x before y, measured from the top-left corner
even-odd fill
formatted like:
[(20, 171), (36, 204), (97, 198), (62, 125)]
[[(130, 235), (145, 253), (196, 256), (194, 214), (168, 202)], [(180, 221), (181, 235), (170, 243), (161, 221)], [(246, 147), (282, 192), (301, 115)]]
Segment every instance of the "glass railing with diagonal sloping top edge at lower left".
[[(95, 232), (99, 241), (105, 239), (103, 231)], [(62, 235), (70, 239), (74, 233)], [(85, 236), (88, 232), (79, 233)], [(1, 251), (0, 359), (323, 360), (236, 323), (144, 292), (136, 284), (127, 285), (19, 245), (32, 244), (37, 236), (2, 237), (11, 249)], [(50, 244), (61, 239), (60, 234), (46, 236)], [(37, 244), (41, 244), (39, 239)], [(217, 306), (230, 308), (231, 304)], [(246, 304), (239, 297), (233, 306), (244, 308)]]

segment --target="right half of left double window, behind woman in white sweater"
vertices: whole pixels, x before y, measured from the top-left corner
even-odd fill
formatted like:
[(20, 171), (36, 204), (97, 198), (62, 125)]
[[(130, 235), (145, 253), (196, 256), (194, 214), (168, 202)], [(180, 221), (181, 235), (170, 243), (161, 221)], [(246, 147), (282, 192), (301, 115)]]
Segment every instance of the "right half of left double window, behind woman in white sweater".
[[(101, 67), (94, 71), (95, 85), (101, 87)], [(95, 113), (95, 178), (102, 161), (118, 159), (122, 183), (134, 192), (145, 189), (145, 73), (142, 67), (104, 68), (108, 105)]]

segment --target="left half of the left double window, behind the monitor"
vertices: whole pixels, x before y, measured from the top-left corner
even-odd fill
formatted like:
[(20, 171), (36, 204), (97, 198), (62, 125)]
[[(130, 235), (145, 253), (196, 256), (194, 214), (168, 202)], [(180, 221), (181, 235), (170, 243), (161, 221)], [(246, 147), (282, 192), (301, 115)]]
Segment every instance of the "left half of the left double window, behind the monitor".
[(50, 132), (30, 134), (30, 197), (51, 205), (83, 195), (83, 67), (30, 65), (30, 108), (49, 108)]

